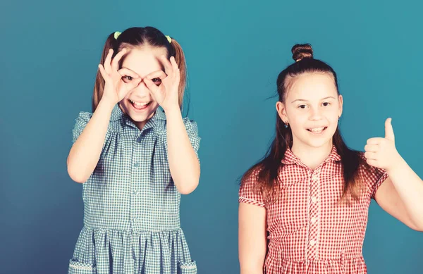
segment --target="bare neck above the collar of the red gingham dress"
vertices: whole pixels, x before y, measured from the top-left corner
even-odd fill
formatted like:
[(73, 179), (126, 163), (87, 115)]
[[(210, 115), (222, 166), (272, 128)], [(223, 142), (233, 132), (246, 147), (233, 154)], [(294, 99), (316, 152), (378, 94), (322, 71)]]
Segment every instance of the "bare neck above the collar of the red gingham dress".
[(331, 154), (333, 147), (332, 139), (321, 147), (309, 147), (305, 145), (295, 146), (293, 143), (292, 151), (300, 161), (312, 170), (317, 168)]

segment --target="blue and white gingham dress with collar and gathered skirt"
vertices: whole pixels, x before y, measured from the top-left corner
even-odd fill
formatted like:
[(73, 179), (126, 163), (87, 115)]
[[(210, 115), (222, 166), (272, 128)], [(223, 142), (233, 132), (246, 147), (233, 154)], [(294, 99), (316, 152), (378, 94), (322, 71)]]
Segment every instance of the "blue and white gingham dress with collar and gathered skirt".
[[(79, 114), (73, 142), (91, 117)], [(197, 124), (183, 121), (197, 154)], [(197, 273), (180, 228), (180, 194), (169, 171), (161, 108), (139, 130), (114, 107), (102, 154), (83, 184), (82, 198), (84, 226), (69, 274)]]

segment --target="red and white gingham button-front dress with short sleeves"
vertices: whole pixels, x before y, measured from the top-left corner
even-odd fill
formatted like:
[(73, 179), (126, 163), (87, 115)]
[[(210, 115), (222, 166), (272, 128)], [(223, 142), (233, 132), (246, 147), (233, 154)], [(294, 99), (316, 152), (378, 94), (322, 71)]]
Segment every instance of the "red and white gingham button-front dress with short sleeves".
[(335, 147), (315, 170), (301, 163), (290, 149), (282, 163), (279, 176), (283, 185), (275, 201), (266, 204), (256, 191), (258, 170), (240, 188), (240, 203), (266, 208), (266, 274), (367, 273), (362, 256), (367, 213), (386, 172), (360, 166), (364, 191), (359, 201), (348, 205), (338, 202), (343, 166)]

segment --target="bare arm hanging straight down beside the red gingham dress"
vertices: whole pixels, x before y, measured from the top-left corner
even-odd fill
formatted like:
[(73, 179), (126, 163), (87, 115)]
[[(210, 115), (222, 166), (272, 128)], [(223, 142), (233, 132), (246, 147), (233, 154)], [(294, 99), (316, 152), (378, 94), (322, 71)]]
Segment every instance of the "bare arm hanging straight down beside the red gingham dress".
[(266, 257), (266, 208), (240, 203), (238, 241), (241, 274), (263, 274)]

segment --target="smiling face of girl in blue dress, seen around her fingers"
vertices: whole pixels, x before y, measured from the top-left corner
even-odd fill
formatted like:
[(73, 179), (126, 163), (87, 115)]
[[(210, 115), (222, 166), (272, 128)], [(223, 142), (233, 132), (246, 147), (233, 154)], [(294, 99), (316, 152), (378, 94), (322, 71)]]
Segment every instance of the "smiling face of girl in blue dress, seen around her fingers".
[[(122, 62), (122, 68), (132, 70), (141, 78), (140, 84), (128, 92), (120, 102), (122, 111), (130, 116), (140, 129), (149, 118), (152, 118), (154, 111), (159, 107), (142, 79), (154, 71), (164, 70), (159, 61), (159, 56), (163, 55), (167, 55), (165, 48), (142, 46), (128, 50)], [(124, 81), (128, 82), (127, 79)], [(161, 80), (155, 80), (155, 83), (160, 85)]]

